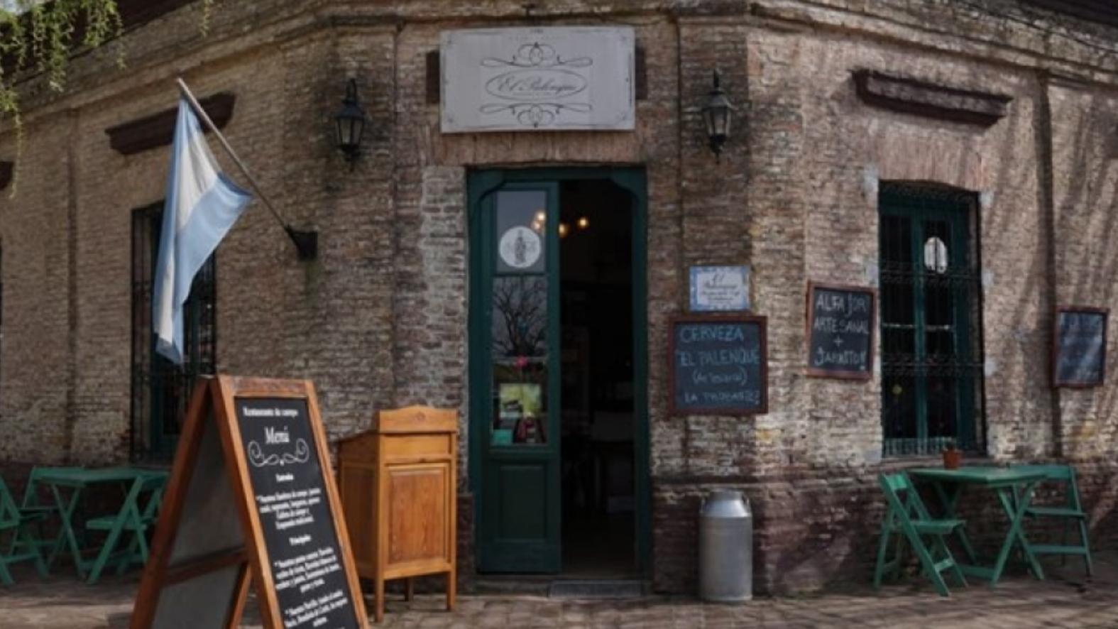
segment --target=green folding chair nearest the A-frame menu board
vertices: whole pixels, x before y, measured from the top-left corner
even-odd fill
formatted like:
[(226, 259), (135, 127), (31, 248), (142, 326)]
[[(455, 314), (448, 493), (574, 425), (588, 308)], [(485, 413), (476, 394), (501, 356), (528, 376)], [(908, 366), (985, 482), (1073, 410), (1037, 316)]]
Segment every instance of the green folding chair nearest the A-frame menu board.
[[(111, 560), (116, 561), (117, 574), (123, 574), (133, 563), (142, 565), (148, 562), (148, 531), (155, 526), (165, 485), (164, 473), (141, 474), (132, 482), (132, 487), (124, 497), (124, 504), (115, 515), (86, 521), (86, 530), (107, 533), (97, 557), (93, 561), (87, 583), (96, 583)], [(117, 552), (117, 544), (125, 535), (131, 535), (127, 547)]]

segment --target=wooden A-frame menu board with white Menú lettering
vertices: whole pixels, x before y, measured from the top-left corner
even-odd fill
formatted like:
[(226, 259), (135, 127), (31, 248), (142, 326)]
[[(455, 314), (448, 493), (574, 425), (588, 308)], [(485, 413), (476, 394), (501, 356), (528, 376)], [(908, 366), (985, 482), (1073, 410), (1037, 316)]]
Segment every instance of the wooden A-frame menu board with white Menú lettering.
[(249, 582), (268, 629), (368, 628), (310, 381), (199, 383), (131, 627), (237, 627)]

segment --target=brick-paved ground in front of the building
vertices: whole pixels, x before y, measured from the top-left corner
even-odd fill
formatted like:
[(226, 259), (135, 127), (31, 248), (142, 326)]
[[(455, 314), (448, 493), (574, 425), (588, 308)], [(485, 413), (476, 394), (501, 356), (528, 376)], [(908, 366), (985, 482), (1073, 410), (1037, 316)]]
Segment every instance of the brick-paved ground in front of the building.
[[(1045, 561), (1046, 581), (1024, 574), (997, 588), (972, 583), (940, 599), (915, 578), (875, 593), (868, 587), (788, 598), (757, 598), (742, 606), (704, 604), (691, 598), (646, 597), (629, 600), (556, 600), (546, 597), (463, 595), (458, 608), (442, 610), (443, 599), (418, 595), (411, 602), (388, 600), (385, 627), (392, 629), (670, 628), (736, 627), (813, 628), (1116, 628), (1118, 629), (1118, 553), (1098, 554), (1097, 575), (1087, 580), (1080, 562)], [(98, 585), (79, 583), (56, 570), (47, 580), (17, 570), (13, 588), (0, 587), (0, 628), (85, 629), (127, 626), (138, 578), (106, 578)], [(246, 627), (259, 627), (252, 601)], [(255, 623), (254, 623), (255, 621)]]

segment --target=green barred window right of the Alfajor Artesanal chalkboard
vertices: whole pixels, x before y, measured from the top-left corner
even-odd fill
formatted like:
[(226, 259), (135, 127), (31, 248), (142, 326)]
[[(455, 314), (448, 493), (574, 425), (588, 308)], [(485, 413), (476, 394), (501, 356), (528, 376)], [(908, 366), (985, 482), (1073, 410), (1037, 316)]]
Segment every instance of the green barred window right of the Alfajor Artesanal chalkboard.
[(880, 187), (884, 456), (983, 447), (976, 201), (946, 187)]

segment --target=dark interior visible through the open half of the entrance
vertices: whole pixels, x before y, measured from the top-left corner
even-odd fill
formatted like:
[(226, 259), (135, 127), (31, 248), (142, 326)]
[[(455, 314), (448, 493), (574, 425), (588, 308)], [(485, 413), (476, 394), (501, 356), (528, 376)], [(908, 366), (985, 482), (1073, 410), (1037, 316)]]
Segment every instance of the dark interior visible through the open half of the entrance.
[(633, 200), (577, 180), (559, 201), (563, 574), (632, 576)]

